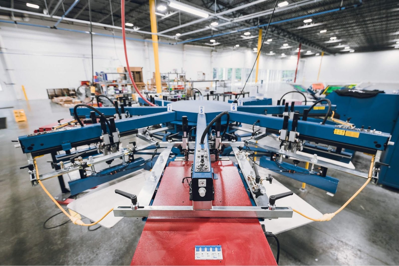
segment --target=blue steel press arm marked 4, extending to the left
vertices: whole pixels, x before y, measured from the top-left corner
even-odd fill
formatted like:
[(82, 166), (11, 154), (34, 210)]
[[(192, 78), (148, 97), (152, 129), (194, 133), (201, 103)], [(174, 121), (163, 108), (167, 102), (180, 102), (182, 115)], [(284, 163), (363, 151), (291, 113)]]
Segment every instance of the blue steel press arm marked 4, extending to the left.
[[(120, 134), (131, 132), (138, 128), (152, 126), (176, 120), (175, 112), (161, 112), (116, 120), (115, 125)], [(80, 128), (65, 128), (55, 132), (42, 133), (35, 136), (20, 136), (22, 152), (35, 155), (47, 154), (49, 149), (69, 150), (73, 144), (97, 142), (102, 135), (100, 123)], [(77, 145), (79, 146), (79, 145)]]

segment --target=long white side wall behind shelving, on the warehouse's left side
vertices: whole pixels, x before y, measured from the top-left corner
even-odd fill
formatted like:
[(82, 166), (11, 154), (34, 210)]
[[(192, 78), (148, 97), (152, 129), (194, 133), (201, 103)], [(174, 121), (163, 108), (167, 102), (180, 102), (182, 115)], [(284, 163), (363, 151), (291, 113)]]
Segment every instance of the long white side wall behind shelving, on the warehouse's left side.
[[(30, 23), (34, 23), (31, 20)], [(40, 21), (36, 24), (43, 24)], [(52, 25), (52, 24), (48, 24)], [(65, 27), (65, 26), (63, 26)], [(76, 30), (87, 27), (68, 26)], [(94, 29), (93, 32), (112, 34), (109, 31)], [(117, 34), (117, 33), (116, 33)], [(117, 34), (119, 35), (119, 33)], [(149, 35), (148, 35), (149, 36)], [(21, 86), (24, 85), (28, 99), (46, 99), (46, 89), (78, 87), (80, 81), (91, 80), (90, 35), (85, 33), (51, 30), (16, 24), (1, 24), (3, 57), (7, 57), (7, 69), (14, 80), (16, 97), (23, 99)], [(127, 37), (143, 39), (128, 34)], [(114, 43), (115, 40), (115, 43)], [(143, 67), (144, 81), (152, 78), (154, 53), (152, 43), (127, 40), (129, 65)], [(197, 71), (211, 78), (211, 50), (183, 45), (159, 44), (159, 62), (161, 73), (183, 68), (187, 79), (197, 79)], [(93, 35), (94, 72), (107, 71), (107, 68), (126, 66), (123, 43), (120, 38)], [(185, 57), (185, 60), (184, 60)], [(0, 60), (0, 69), (5, 69), (4, 60)], [(3, 77), (4, 76), (4, 77)], [(0, 75), (2, 87), (9, 83), (6, 75)], [(4, 89), (4, 88), (3, 88)], [(5, 96), (0, 91), (0, 97)], [(8, 93), (10, 95), (10, 93)]]

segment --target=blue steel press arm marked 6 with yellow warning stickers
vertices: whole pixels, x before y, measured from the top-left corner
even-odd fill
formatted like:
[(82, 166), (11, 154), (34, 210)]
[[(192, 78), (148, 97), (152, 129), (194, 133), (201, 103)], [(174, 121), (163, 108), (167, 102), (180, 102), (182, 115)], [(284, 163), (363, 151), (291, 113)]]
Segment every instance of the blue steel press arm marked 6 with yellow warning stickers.
[[(229, 112), (230, 120), (241, 122), (245, 124), (253, 124), (257, 120), (259, 126), (271, 129), (271, 130), (280, 130), (282, 129), (283, 118), (274, 117), (274, 116), (266, 116), (264, 114), (249, 114), (247, 112)], [(288, 128), (291, 128), (292, 120), (288, 122)], [(340, 129), (333, 125), (320, 123), (314, 123), (309, 121), (298, 121), (297, 132), (299, 132), (298, 138), (309, 140), (310, 138), (315, 138), (320, 140), (320, 142), (336, 142), (340, 144), (346, 144), (346, 146), (354, 146), (353, 150), (362, 151), (361, 148), (365, 148), (367, 150), (385, 150), (385, 145), (389, 141), (391, 135), (387, 133), (373, 133), (372, 130), (359, 130), (359, 129), (344, 129), (347, 132), (354, 132), (352, 136), (356, 136), (357, 132), (359, 133), (358, 137), (345, 136), (340, 134), (335, 134), (334, 130)], [(350, 135), (350, 134), (348, 134)], [(358, 149), (354, 149), (358, 147)], [(366, 151), (365, 151), (366, 152)]]

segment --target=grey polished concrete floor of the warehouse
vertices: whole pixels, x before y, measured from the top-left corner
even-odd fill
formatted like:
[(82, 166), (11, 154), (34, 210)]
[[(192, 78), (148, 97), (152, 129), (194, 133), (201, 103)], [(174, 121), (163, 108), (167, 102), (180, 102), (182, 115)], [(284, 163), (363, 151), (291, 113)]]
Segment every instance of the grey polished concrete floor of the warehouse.
[[(282, 92), (284, 93), (284, 92)], [(279, 94), (281, 95), (281, 94)], [(13, 147), (11, 140), (28, 134), (41, 125), (69, 118), (67, 108), (49, 100), (0, 102), (0, 117), (7, 116), (8, 128), (0, 130), (0, 264), (2, 265), (126, 265), (134, 254), (144, 223), (122, 219), (112, 229), (88, 231), (67, 223), (56, 229), (43, 229), (43, 222), (58, 212), (40, 187), (30, 185), (26, 156)], [(12, 110), (23, 108), (28, 122), (14, 122)], [(48, 156), (49, 157), (49, 156)], [(50, 160), (44, 158), (43, 160)], [(356, 165), (367, 169), (368, 162), (356, 156)], [(48, 164), (43, 171), (50, 170)], [(276, 175), (289, 189), (300, 195), (322, 213), (336, 211), (363, 184), (364, 179), (329, 170), (340, 183), (334, 197), (301, 183)], [(56, 179), (46, 181), (47, 189), (56, 195)], [(397, 265), (399, 264), (399, 193), (379, 185), (368, 185), (354, 201), (332, 221), (311, 223), (278, 235), (281, 244), (280, 265)], [(48, 226), (66, 221), (62, 215)], [(84, 221), (88, 222), (87, 219)], [(276, 252), (274, 240), (270, 240)]]

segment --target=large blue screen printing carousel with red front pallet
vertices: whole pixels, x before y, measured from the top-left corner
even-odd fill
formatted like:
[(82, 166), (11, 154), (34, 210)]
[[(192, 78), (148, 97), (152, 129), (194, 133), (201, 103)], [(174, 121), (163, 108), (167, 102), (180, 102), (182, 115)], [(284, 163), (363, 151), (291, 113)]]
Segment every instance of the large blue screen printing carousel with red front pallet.
[[(326, 105), (292, 104), (288, 110), (288, 105), (237, 106), (208, 100), (164, 103), (167, 106), (76, 106), (71, 114), (81, 126), (64, 123), (19, 137), (28, 156), (26, 167), (32, 185), (39, 184), (45, 190), (42, 181), (52, 177), (62, 180), (63, 175), (76, 173), (68, 187), (71, 194), (77, 194), (108, 182), (108, 186), (69, 203), (68, 208), (95, 220), (115, 204), (108, 212), (113, 215), (97, 221), (106, 227), (122, 217), (146, 221), (132, 259), (134, 265), (276, 265), (265, 230), (279, 233), (311, 222), (296, 209), (314, 217), (322, 215), (270, 173), (335, 193), (338, 179), (328, 176), (328, 169), (365, 177), (365, 185), (376, 183), (385, 165), (379, 160), (381, 154), (393, 145), (391, 136), (383, 132), (338, 120), (331, 125), (308, 118), (310, 114), (329, 115), (334, 106), (326, 113), (326, 108), (319, 108)], [(251, 126), (245, 128), (245, 124)], [(250, 136), (240, 141), (234, 134), (237, 130)], [(146, 144), (133, 142), (122, 147), (122, 137), (126, 136), (137, 136)], [(278, 145), (263, 144), (266, 138)], [(370, 154), (369, 172), (301, 153), (305, 141), (334, 147), (336, 153), (347, 148)], [(89, 148), (83, 148), (86, 146)], [(151, 148), (162, 150), (156, 160), (138, 157)], [(260, 159), (262, 167), (251, 159), (255, 149), (267, 154)], [(54, 171), (39, 175), (36, 158), (46, 154), (51, 154)], [(294, 159), (294, 164), (288, 159)], [(299, 162), (310, 167), (300, 167)], [(151, 171), (142, 170), (148, 163)], [(102, 168), (103, 164), (106, 167)], [(126, 174), (133, 177), (110, 184)], [(65, 185), (61, 189), (68, 190)], [(335, 214), (313, 220), (329, 221)], [(79, 217), (70, 219), (87, 225)]]

